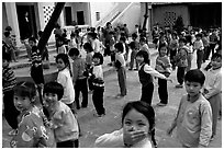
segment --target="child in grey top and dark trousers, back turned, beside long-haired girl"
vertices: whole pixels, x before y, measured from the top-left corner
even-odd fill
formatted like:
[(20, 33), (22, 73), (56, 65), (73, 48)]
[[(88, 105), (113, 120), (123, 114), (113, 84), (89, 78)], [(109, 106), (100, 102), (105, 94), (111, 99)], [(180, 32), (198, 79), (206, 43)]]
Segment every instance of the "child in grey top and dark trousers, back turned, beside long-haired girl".
[(87, 107), (88, 105), (88, 86), (87, 86), (87, 77), (83, 74), (86, 71), (86, 61), (80, 57), (80, 53), (77, 48), (71, 48), (68, 53), (70, 58), (74, 60), (72, 70), (74, 70), (74, 85), (75, 85), (75, 101), (76, 108), (80, 109), (79, 105), (79, 93), (82, 95), (81, 107)]

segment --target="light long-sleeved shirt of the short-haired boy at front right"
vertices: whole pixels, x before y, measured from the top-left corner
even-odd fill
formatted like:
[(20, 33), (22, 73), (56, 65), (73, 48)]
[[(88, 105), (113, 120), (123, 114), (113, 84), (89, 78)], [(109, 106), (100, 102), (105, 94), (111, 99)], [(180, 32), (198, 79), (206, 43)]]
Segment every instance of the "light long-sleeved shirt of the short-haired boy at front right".
[(200, 93), (193, 102), (186, 94), (180, 101), (177, 123), (177, 138), (187, 147), (208, 147), (212, 136), (212, 108)]

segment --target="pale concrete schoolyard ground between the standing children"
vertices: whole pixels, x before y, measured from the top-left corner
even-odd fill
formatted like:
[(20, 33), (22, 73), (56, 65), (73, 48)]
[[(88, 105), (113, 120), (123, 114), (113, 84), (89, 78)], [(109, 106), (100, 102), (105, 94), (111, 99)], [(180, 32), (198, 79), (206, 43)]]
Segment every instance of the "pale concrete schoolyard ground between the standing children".
[[(157, 53), (155, 49), (153, 51), (152, 66), (155, 67), (155, 58)], [(107, 58), (103, 66), (104, 70), (104, 81), (105, 81), (105, 92), (104, 92), (104, 107), (107, 109), (107, 115), (102, 118), (93, 116), (94, 107), (91, 101), (91, 94), (89, 93), (89, 104), (87, 108), (78, 111), (78, 120), (81, 127), (82, 136), (79, 139), (80, 148), (93, 148), (94, 140), (105, 134), (111, 132), (115, 129), (120, 129), (121, 124), (121, 113), (124, 104), (130, 101), (137, 101), (141, 97), (141, 84), (138, 81), (137, 71), (126, 71), (127, 74), (127, 95), (123, 99), (115, 99), (119, 93), (117, 74), (114, 69), (107, 66), (110, 62), (110, 58)], [(195, 56), (192, 60), (195, 68)], [(203, 67), (205, 64), (203, 65)], [(180, 148), (180, 143), (176, 139), (176, 131), (172, 137), (166, 136), (166, 130), (170, 126), (179, 105), (180, 97), (186, 93), (184, 89), (176, 89), (177, 84), (176, 71), (170, 76), (172, 83), (168, 83), (169, 91), (169, 104), (165, 107), (157, 107), (155, 104), (159, 102), (158, 97), (158, 85), (157, 80), (155, 80), (155, 90), (153, 96), (153, 106), (156, 112), (156, 139), (158, 141), (158, 148)], [(81, 97), (80, 97), (81, 101)], [(11, 137), (8, 136), (10, 127), (5, 119), (2, 118), (2, 147), (9, 148), (9, 141)], [(222, 148), (222, 119), (217, 123), (217, 135), (215, 139), (210, 143), (210, 148)]]

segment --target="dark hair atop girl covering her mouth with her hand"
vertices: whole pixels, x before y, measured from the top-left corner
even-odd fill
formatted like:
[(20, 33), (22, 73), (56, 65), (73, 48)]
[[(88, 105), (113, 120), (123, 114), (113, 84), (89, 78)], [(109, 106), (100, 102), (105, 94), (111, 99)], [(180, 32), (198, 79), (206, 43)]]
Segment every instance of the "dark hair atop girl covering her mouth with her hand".
[(152, 131), (155, 127), (155, 111), (149, 104), (143, 101), (128, 102), (124, 106), (123, 113), (122, 113), (122, 125), (124, 124), (124, 118), (126, 114), (132, 109), (139, 112), (147, 118), (149, 124), (149, 131)]

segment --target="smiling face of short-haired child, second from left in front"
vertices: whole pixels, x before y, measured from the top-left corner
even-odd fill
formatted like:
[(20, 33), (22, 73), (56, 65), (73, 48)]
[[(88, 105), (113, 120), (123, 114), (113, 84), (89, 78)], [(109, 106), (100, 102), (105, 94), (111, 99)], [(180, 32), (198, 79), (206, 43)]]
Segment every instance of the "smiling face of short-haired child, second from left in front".
[(56, 93), (44, 93), (43, 103), (46, 108), (53, 107), (58, 102)]

